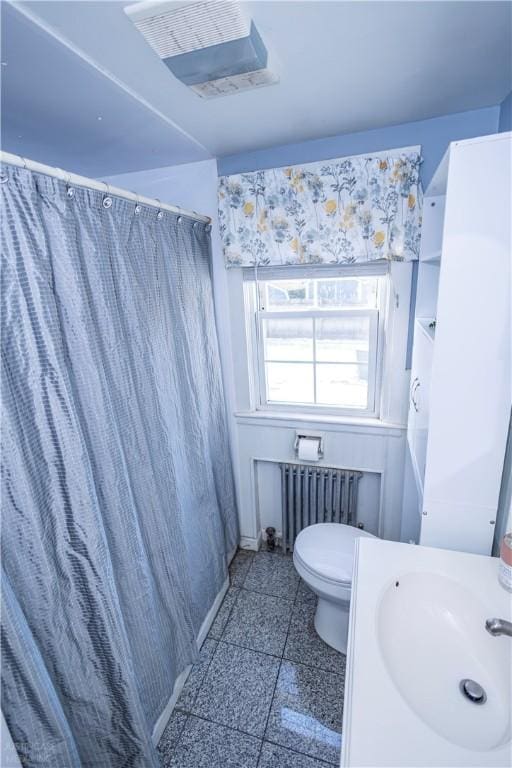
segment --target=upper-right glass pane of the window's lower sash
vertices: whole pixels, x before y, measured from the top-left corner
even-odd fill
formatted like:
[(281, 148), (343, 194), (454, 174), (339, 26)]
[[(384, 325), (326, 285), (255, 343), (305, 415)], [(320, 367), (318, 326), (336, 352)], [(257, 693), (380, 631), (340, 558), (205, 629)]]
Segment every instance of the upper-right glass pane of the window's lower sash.
[(316, 359), (328, 363), (368, 364), (369, 317), (332, 317), (316, 321)]

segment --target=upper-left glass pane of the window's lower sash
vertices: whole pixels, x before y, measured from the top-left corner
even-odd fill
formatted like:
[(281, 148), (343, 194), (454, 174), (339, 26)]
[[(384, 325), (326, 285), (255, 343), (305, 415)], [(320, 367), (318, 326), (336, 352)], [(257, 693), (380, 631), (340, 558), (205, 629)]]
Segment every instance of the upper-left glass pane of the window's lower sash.
[(313, 321), (264, 320), (265, 360), (313, 360)]

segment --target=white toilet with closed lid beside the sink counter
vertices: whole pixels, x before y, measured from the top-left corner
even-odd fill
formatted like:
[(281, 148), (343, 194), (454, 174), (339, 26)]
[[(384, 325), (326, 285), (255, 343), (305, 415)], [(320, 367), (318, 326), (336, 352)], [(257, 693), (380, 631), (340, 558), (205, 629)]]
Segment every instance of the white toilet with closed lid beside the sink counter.
[(342, 523), (318, 523), (295, 539), (293, 563), (299, 576), (318, 595), (315, 629), (332, 648), (347, 652), (348, 617), (355, 541), (371, 536)]

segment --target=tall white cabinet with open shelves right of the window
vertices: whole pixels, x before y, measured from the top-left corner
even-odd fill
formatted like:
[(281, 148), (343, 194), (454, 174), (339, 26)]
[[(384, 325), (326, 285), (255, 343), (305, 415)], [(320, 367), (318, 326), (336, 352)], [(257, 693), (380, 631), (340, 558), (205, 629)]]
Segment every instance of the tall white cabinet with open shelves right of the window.
[(420, 543), (483, 554), (511, 407), (511, 152), (510, 133), (450, 145), (425, 195), (418, 274), (408, 441)]

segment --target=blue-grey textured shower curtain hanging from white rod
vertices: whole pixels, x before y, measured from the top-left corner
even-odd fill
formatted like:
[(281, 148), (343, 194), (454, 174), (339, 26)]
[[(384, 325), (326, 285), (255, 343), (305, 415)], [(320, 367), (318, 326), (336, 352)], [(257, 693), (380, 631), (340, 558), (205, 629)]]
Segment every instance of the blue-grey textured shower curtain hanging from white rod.
[(209, 235), (1, 181), (2, 709), (26, 766), (151, 768), (238, 540)]

